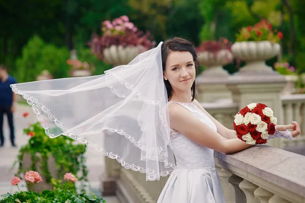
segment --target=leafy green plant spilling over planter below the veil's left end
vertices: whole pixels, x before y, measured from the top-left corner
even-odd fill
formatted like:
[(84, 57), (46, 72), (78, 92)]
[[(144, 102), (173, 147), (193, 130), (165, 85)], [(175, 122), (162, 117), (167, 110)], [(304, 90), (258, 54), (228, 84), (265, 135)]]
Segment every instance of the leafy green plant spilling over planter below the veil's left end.
[[(41, 127), (40, 123), (30, 125), (23, 129), (24, 134), (32, 135), (28, 143), (21, 147), (18, 155), (18, 160), (14, 163), (19, 163), (19, 168), (15, 176), (21, 177), (21, 173), (28, 170), (37, 171), (36, 163), (41, 161), (41, 170), (47, 180), (47, 183), (52, 183), (52, 178), (48, 169), (48, 158), (52, 155), (56, 162), (58, 169), (57, 179), (62, 180), (66, 172), (77, 174), (82, 172), (82, 176), (78, 178), (80, 181), (87, 181), (87, 168), (85, 165), (84, 153), (86, 151), (85, 144), (75, 144), (73, 139), (67, 136), (58, 136), (56, 138), (49, 138), (45, 134), (45, 129)], [(23, 168), (22, 159), (25, 153), (31, 154), (32, 166), (31, 168)], [(41, 155), (41, 160), (37, 156)], [(55, 181), (53, 180), (53, 183)], [(59, 183), (59, 182), (58, 182)]]

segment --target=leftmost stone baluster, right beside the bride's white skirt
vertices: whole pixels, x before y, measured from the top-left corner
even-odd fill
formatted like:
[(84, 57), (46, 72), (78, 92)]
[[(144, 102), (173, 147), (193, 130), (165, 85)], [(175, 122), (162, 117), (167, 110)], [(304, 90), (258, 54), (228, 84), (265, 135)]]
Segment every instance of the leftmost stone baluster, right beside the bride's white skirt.
[(233, 175), (231, 172), (215, 166), (218, 172), (218, 176), (223, 188), (225, 199), (227, 203), (235, 203), (234, 187), (229, 183), (229, 178)]

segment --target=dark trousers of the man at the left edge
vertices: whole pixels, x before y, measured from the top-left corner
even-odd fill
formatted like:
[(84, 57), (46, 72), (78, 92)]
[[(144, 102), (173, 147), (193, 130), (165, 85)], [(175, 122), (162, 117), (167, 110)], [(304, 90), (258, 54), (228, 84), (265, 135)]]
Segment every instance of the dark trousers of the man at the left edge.
[(0, 107), (0, 144), (4, 144), (4, 135), (3, 135), (3, 120), (4, 120), (4, 114), (7, 114), (10, 131), (11, 131), (11, 143), (12, 145), (15, 144), (15, 133), (14, 133), (14, 123), (13, 123), (13, 113), (11, 112), (11, 107)]

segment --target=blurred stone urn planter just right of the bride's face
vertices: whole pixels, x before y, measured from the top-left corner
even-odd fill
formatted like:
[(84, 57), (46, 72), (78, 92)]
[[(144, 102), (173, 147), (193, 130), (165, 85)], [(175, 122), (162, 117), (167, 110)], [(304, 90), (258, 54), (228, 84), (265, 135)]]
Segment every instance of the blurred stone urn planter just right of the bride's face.
[(198, 62), (204, 65), (206, 69), (201, 73), (202, 76), (228, 76), (228, 72), (223, 69), (223, 66), (231, 63), (234, 56), (228, 49), (221, 49), (217, 53), (203, 51), (197, 53)]

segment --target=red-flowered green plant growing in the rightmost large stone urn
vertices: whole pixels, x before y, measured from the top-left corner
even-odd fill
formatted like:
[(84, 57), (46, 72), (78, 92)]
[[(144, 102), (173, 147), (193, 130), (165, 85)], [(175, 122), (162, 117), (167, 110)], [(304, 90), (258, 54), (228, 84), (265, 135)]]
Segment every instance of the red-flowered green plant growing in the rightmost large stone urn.
[(236, 41), (270, 41), (278, 43), (283, 39), (283, 33), (272, 30), (272, 25), (267, 20), (262, 19), (254, 26), (242, 27), (236, 35)]

